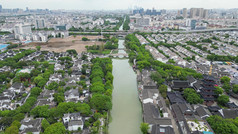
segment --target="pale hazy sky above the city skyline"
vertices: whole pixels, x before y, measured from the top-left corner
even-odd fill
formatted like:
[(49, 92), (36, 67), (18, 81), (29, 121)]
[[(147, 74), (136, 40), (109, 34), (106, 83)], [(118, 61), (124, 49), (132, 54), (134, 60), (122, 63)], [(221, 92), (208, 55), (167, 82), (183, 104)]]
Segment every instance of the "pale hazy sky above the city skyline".
[(155, 9), (238, 8), (237, 0), (1, 0), (3, 8), (29, 9), (128, 9), (134, 6)]

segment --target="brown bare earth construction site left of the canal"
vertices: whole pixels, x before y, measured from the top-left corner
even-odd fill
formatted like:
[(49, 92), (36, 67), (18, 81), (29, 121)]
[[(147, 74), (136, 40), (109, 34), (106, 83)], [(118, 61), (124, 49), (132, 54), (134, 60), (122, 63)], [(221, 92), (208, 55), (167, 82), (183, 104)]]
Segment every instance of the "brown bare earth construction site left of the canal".
[[(86, 37), (90, 41), (82, 41)], [(41, 46), (41, 51), (66, 52), (69, 49), (75, 49), (78, 53), (87, 51), (85, 46), (102, 45), (104, 42), (98, 41), (101, 36), (69, 36), (67, 38), (52, 38), (46, 43), (32, 42), (22, 45), (22, 49), (35, 49)]]

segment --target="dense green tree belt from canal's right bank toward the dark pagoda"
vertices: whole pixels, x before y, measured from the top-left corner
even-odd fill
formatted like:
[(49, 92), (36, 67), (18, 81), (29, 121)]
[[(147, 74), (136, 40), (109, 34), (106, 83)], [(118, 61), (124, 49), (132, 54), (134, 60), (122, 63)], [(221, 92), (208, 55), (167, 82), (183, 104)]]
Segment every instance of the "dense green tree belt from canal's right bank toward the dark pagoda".
[[(134, 34), (126, 36), (126, 47), (131, 50), (129, 53), (129, 60), (133, 62), (136, 60), (136, 65), (139, 70), (150, 69), (151, 67), (159, 72), (163, 79), (180, 79), (186, 80), (187, 76), (192, 75), (195, 78), (202, 78), (202, 74), (195, 70), (165, 64), (153, 59), (150, 52), (145, 49), (145, 45), (141, 45)], [(152, 76), (155, 81), (160, 80), (160, 76)], [(157, 80), (156, 80), (157, 79)], [(162, 81), (159, 81), (160, 83)]]

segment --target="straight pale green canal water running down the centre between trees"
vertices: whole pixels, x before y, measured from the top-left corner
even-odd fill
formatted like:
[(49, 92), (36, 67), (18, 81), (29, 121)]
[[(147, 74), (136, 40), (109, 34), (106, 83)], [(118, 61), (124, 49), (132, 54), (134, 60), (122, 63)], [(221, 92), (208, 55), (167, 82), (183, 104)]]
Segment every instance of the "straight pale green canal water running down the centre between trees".
[[(119, 48), (124, 48), (119, 40)], [(119, 50), (119, 53), (125, 53)], [(109, 134), (141, 134), (142, 108), (138, 99), (136, 74), (128, 59), (113, 59), (112, 121)]]

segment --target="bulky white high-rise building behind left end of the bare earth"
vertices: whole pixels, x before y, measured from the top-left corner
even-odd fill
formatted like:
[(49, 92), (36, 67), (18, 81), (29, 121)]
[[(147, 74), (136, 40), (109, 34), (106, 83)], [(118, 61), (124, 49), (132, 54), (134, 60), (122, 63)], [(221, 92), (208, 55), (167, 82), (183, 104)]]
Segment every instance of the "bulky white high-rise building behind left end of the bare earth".
[(15, 35), (27, 35), (31, 34), (31, 25), (30, 24), (17, 24), (14, 27)]

